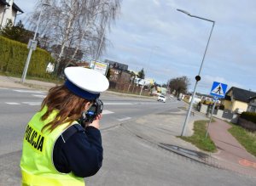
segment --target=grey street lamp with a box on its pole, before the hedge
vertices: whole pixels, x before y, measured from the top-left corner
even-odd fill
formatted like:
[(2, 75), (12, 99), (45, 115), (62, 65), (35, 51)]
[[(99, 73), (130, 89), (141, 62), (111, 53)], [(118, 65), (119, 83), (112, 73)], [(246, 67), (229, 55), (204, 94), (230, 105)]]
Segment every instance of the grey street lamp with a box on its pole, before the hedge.
[(41, 20), (41, 15), (42, 15), (44, 6), (50, 6), (50, 5), (48, 3), (43, 3), (42, 4), (42, 8), (41, 8), (41, 11), (40, 11), (40, 14), (39, 14), (39, 17), (38, 17), (38, 24), (37, 24), (37, 27), (36, 27), (35, 34), (34, 34), (33, 40), (29, 43), (29, 46), (28, 46), (29, 47), (29, 52), (28, 52), (27, 58), (26, 58), (26, 65), (24, 67), (24, 70), (23, 70), (23, 73), (22, 73), (22, 76), (21, 76), (21, 80), (20, 80), (21, 83), (25, 82), (26, 72), (27, 72), (28, 65), (29, 65), (29, 62), (30, 62), (30, 59), (31, 59), (32, 51), (35, 50), (36, 45), (37, 45), (36, 37), (37, 37), (38, 26), (39, 26), (39, 23), (40, 23), (40, 20)]

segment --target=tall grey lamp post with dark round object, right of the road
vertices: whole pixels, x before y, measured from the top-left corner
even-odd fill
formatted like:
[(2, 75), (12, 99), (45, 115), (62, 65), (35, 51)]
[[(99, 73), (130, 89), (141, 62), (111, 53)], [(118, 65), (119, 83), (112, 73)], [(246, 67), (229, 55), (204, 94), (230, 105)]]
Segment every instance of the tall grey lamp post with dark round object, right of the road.
[[(185, 11), (185, 10), (182, 10), (182, 9), (177, 9), (177, 11), (182, 12), (183, 14), (187, 14), (187, 15), (189, 15), (190, 17), (194, 17), (194, 18), (198, 18), (198, 19), (201, 19), (201, 20), (207, 20), (207, 21), (209, 21), (209, 22), (212, 22), (212, 30), (213, 30), (213, 27), (214, 27), (214, 25), (215, 25), (215, 21), (214, 21), (214, 20), (208, 20), (208, 19), (205, 19), (205, 18), (201, 18), (201, 17), (199, 17), (199, 16), (196, 16), (196, 15), (192, 15), (192, 14), (190, 14), (189, 12), (187, 12), (187, 11)], [(208, 38), (207, 48), (208, 48), (208, 44), (209, 44), (210, 39), (211, 39), (211, 36), (212, 36), (212, 30), (211, 30), (210, 36), (209, 36), (209, 38)], [(207, 48), (206, 48), (205, 53), (204, 53), (204, 55), (203, 55), (203, 59), (202, 59), (202, 61), (201, 61), (201, 66), (200, 66), (198, 75), (195, 76), (195, 81), (196, 81), (196, 82), (195, 82), (195, 87), (194, 87), (194, 91), (193, 91), (193, 94), (192, 94), (191, 102), (190, 102), (190, 104), (189, 104), (189, 111), (188, 111), (188, 114), (187, 114), (187, 116), (186, 116), (185, 122), (184, 122), (184, 124), (183, 124), (183, 131), (182, 131), (182, 133), (181, 133), (181, 136), (184, 135), (186, 126), (187, 126), (188, 121), (189, 121), (190, 112), (191, 112), (192, 105), (193, 105), (194, 98), (195, 98), (196, 86), (197, 86), (197, 83), (201, 80), (201, 76), (200, 76), (200, 74), (201, 74), (201, 68), (202, 68), (202, 65), (203, 65), (203, 63), (204, 63), (204, 59), (205, 59), (206, 54), (207, 54)]]

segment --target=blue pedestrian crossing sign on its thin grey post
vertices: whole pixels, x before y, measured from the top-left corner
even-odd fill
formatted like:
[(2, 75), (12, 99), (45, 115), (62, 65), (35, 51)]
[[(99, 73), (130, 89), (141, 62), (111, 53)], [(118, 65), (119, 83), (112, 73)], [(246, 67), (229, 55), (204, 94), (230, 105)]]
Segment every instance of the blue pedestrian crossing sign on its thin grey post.
[(212, 106), (210, 121), (208, 122), (208, 125), (207, 125), (206, 138), (208, 135), (208, 130), (209, 130), (210, 124), (212, 122), (212, 115), (213, 115), (213, 111), (216, 106), (216, 102), (218, 101), (218, 98), (224, 99), (226, 91), (227, 91), (227, 87), (228, 87), (228, 85), (221, 83), (221, 82), (213, 82), (213, 84), (212, 84), (212, 90), (211, 90), (210, 94), (212, 96), (214, 96), (214, 104)]

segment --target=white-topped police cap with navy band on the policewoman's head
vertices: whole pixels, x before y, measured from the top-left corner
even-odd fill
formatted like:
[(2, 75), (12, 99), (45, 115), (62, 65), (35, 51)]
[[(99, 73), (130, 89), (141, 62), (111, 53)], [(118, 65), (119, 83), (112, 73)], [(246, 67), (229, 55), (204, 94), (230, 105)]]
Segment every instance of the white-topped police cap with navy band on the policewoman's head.
[(67, 67), (64, 73), (67, 77), (64, 85), (83, 99), (97, 99), (109, 86), (107, 77), (96, 70), (73, 66)]

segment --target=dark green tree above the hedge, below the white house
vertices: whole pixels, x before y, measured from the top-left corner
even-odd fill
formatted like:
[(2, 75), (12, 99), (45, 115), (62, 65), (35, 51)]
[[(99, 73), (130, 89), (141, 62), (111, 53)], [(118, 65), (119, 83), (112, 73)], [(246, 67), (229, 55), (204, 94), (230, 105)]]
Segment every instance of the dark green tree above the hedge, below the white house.
[(9, 20), (7, 25), (0, 31), (1, 36), (8, 37), (9, 39), (28, 43), (29, 39), (32, 37), (32, 31), (27, 31), (24, 28), (21, 20), (17, 23), (17, 25), (13, 25), (12, 21)]

